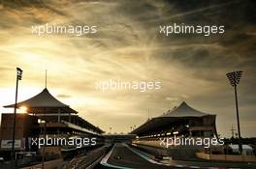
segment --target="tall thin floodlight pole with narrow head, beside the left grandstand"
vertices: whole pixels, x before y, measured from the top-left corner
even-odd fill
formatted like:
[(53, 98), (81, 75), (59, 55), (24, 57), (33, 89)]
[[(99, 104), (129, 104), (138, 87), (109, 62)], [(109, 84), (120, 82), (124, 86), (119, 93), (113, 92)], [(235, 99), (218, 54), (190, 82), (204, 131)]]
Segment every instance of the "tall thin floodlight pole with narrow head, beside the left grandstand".
[[(18, 80), (21, 80), (22, 78), (22, 71), (23, 70), (16, 68), (16, 99), (17, 99)], [(16, 165), (15, 142), (16, 142), (16, 104), (15, 104), (15, 113), (14, 113), (14, 129), (13, 129), (13, 141), (12, 141), (12, 160), (14, 162), (14, 165)]]

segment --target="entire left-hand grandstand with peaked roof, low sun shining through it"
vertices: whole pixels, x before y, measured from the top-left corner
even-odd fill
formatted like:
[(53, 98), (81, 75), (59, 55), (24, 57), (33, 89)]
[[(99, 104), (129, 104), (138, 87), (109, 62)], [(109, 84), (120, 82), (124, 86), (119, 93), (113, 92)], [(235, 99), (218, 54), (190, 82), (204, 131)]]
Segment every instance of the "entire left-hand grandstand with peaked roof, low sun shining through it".
[[(14, 108), (15, 104), (4, 106)], [(16, 103), (16, 107), (26, 107), (24, 114), (16, 114), (16, 154), (35, 152), (44, 155), (60, 155), (61, 157), (83, 154), (104, 145), (104, 131), (82, 119), (78, 112), (69, 105), (55, 99), (45, 88), (41, 93)], [(0, 154), (11, 156), (12, 133), (14, 130), (13, 113), (2, 114), (0, 128)], [(76, 145), (52, 145), (47, 147), (31, 146), (32, 138), (96, 138), (96, 145), (78, 147)], [(9, 145), (7, 145), (9, 143)], [(43, 150), (44, 149), (44, 150)]]

